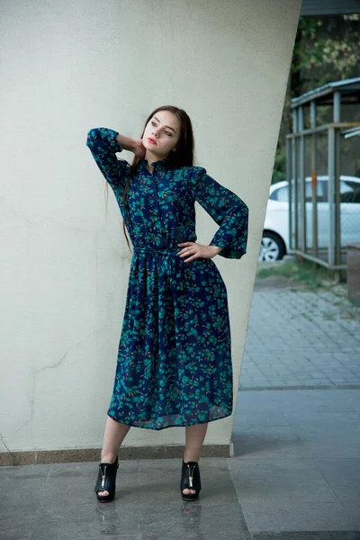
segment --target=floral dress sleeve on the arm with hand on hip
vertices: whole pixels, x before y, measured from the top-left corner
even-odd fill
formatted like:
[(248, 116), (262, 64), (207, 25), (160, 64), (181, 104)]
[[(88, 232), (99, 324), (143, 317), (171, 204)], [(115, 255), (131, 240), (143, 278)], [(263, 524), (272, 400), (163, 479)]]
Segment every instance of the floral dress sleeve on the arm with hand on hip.
[(247, 252), (247, 204), (211, 178), (203, 167), (193, 167), (190, 184), (193, 199), (220, 225), (210, 246), (222, 247), (221, 257), (241, 258)]

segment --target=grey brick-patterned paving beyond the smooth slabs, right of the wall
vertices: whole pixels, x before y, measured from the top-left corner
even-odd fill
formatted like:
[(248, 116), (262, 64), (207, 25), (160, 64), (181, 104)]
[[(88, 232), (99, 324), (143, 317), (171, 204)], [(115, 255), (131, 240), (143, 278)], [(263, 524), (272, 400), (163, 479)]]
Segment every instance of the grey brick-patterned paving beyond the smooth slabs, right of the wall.
[(256, 287), (240, 388), (360, 388), (360, 308), (345, 285)]

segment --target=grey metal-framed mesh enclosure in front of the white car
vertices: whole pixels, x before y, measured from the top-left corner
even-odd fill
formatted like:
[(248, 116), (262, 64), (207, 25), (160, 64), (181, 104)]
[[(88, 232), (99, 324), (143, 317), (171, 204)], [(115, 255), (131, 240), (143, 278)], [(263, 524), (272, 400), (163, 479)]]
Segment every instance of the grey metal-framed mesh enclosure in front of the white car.
[[(360, 132), (360, 122), (341, 121), (342, 106), (347, 103), (360, 106), (360, 77), (329, 83), (294, 98), (293, 132), (286, 136), (290, 248), (293, 253), (336, 271), (347, 268), (346, 246), (341, 245), (340, 145), (354, 137), (359, 143), (360, 156), (360, 139), (355, 137)], [(328, 106), (331, 115), (329, 121), (318, 125), (317, 111), (323, 105)], [(309, 124), (307, 127), (305, 115)], [(327, 246), (323, 241), (319, 242), (320, 153), (326, 162), (328, 179), (329, 204), (326, 214), (321, 210), (321, 230), (329, 228)], [(325, 154), (327, 159), (324, 159)], [(310, 187), (311, 190), (308, 189)], [(358, 233), (360, 238), (360, 230)]]

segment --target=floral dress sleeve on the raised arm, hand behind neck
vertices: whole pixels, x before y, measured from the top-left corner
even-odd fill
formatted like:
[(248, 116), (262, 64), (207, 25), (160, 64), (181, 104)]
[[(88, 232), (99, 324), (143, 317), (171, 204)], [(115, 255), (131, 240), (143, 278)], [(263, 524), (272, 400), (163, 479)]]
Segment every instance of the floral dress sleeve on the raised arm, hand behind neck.
[(103, 173), (112, 190), (125, 188), (130, 165), (125, 159), (118, 159), (116, 152), (122, 152), (122, 147), (116, 139), (119, 131), (109, 128), (94, 128), (87, 132), (86, 146), (90, 148), (97, 166)]

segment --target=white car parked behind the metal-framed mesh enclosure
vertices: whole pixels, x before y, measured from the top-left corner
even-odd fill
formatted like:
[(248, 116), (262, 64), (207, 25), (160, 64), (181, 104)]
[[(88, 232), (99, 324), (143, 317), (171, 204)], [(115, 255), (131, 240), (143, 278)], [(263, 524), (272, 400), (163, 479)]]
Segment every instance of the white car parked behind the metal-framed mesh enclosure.
[[(312, 246), (311, 177), (306, 179), (307, 247)], [(318, 176), (318, 246), (329, 246), (329, 176)], [(341, 246), (360, 241), (360, 178), (340, 176)], [(270, 186), (259, 261), (275, 261), (289, 253), (289, 184)]]

